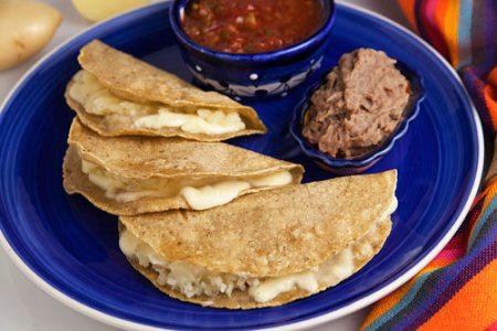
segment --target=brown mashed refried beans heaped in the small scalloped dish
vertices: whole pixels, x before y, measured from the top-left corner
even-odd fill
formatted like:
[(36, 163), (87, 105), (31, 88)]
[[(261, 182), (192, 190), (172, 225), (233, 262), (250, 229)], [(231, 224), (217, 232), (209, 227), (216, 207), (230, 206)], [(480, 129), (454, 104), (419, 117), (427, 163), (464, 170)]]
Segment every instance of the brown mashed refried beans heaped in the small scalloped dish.
[(361, 156), (383, 142), (404, 118), (408, 79), (381, 51), (343, 54), (311, 96), (304, 137), (336, 158)]

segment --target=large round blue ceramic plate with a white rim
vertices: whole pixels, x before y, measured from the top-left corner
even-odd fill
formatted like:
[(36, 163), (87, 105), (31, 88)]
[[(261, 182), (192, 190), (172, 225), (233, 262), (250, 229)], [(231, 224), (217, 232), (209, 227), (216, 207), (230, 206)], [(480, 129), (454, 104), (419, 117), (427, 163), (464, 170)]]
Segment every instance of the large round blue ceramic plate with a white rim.
[[(331, 320), (378, 300), (412, 277), (455, 233), (477, 190), (483, 163), (480, 124), (468, 96), (448, 65), (413, 34), (381, 17), (341, 4), (316, 77), (343, 52), (369, 46), (417, 70), (426, 88), (426, 99), (409, 132), (369, 170), (399, 169), (399, 209), (383, 249), (337, 287), (279, 308), (202, 308), (156, 290), (120, 254), (116, 217), (62, 189), (62, 158), (74, 116), (63, 93), (78, 70), (80, 47), (95, 38), (189, 79), (167, 10), (167, 3), (158, 3), (93, 26), (42, 60), (3, 105), (0, 241), (40, 287), (78, 311), (119, 328), (289, 330)], [(322, 180), (330, 174), (304, 157), (288, 134), (293, 108), (304, 90), (305, 86), (284, 99), (252, 104), (268, 134), (230, 142), (303, 163), (305, 181)]]

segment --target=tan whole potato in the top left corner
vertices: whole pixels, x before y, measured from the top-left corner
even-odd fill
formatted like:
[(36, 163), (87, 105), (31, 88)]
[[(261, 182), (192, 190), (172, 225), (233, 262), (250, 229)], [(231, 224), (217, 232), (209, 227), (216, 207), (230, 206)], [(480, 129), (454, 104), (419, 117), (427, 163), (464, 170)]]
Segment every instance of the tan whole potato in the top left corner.
[(0, 0), (0, 71), (36, 54), (54, 35), (61, 13), (31, 0)]

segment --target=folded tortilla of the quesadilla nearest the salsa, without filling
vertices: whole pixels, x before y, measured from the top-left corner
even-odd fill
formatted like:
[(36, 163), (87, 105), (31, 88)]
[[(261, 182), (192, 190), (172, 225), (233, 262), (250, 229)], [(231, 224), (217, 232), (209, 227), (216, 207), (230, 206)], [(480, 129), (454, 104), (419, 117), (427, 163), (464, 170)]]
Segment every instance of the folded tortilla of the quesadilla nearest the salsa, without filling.
[(244, 130), (220, 135), (191, 134), (179, 128), (168, 127), (136, 128), (133, 124), (137, 118), (131, 116), (97, 116), (86, 113), (83, 106), (68, 95), (71, 81), (65, 93), (67, 104), (76, 111), (84, 125), (102, 136), (144, 135), (221, 141), (266, 131), (264, 124), (252, 107), (241, 105), (215, 92), (203, 92), (170, 73), (117, 51), (101, 41), (94, 40), (85, 45), (81, 50), (78, 61), (81, 66), (95, 75), (101, 84), (124, 99), (146, 104), (163, 104), (180, 113), (186, 110), (191, 113), (192, 109), (199, 108), (235, 111), (241, 115), (246, 125)]

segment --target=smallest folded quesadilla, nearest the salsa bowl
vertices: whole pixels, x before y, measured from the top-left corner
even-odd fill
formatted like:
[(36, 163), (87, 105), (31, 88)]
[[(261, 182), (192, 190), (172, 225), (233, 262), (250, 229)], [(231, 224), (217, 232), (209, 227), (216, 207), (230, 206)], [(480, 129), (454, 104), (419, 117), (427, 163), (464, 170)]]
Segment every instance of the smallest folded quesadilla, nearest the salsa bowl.
[(67, 85), (67, 104), (102, 136), (183, 137), (221, 141), (264, 134), (257, 113), (215, 92), (203, 92), (101, 41), (77, 57), (82, 71)]

